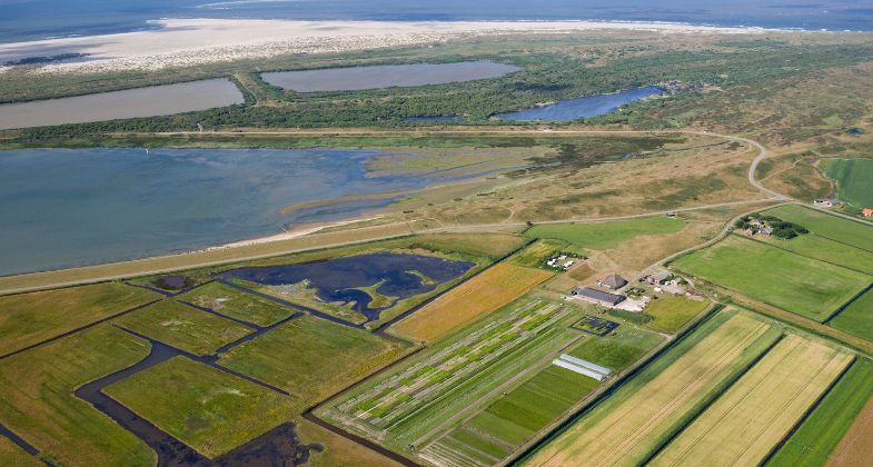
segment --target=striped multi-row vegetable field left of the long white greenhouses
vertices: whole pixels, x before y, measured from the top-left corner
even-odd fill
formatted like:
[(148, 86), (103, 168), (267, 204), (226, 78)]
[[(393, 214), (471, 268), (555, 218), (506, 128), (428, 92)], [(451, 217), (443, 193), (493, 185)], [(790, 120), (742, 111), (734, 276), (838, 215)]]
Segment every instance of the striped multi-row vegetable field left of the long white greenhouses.
[(329, 401), (318, 413), (395, 449), (425, 446), (457, 417), (484, 408), (482, 404), (496, 397), (505, 384), (542, 368), (538, 365), (550, 361), (550, 355), (583, 338), (568, 327), (573, 311), (545, 300), (513, 304), (468, 332), (453, 335)]

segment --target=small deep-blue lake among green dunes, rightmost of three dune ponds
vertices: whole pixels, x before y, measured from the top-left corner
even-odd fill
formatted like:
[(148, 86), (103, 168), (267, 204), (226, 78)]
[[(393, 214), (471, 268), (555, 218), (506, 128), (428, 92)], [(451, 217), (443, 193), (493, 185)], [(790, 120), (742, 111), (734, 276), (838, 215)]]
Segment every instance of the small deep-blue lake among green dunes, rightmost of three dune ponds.
[(618, 110), (625, 103), (636, 102), (651, 96), (663, 95), (664, 90), (647, 86), (645, 88), (628, 89), (626, 91), (585, 96), (563, 100), (557, 103), (517, 112), (500, 113), (497, 117), (504, 120), (575, 120), (577, 118), (597, 117)]

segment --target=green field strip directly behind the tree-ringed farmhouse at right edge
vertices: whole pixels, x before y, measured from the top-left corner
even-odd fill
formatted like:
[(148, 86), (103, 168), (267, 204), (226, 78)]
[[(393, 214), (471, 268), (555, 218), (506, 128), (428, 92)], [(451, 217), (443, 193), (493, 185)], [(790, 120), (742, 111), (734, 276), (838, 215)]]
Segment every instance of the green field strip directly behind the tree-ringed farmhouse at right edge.
[(815, 235), (873, 251), (873, 227), (795, 205), (767, 209), (766, 215), (798, 223)]

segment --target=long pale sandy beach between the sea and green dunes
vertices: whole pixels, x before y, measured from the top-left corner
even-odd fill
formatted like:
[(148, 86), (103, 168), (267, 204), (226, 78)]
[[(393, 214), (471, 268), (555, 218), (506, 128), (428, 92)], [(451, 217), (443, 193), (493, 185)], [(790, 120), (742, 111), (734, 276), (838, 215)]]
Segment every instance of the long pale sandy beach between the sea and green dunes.
[(400, 22), (165, 19), (159, 29), (81, 38), (0, 43), (0, 63), (28, 57), (81, 53), (37, 72), (157, 70), (296, 53), (327, 53), (444, 42), (507, 33), (645, 30), (663, 33), (754, 33), (756, 28), (589, 21)]

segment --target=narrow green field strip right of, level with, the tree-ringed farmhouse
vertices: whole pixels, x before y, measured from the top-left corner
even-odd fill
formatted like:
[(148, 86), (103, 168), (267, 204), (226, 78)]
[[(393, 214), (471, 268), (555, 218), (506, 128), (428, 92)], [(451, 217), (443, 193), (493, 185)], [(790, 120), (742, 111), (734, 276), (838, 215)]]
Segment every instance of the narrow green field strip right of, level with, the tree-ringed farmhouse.
[(791, 240), (774, 238), (767, 242), (808, 258), (873, 275), (873, 251), (831, 240), (826, 237), (807, 234)]

